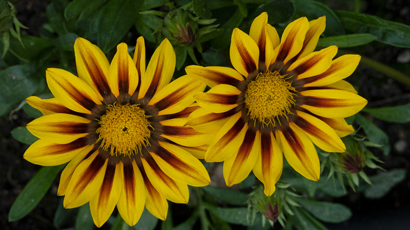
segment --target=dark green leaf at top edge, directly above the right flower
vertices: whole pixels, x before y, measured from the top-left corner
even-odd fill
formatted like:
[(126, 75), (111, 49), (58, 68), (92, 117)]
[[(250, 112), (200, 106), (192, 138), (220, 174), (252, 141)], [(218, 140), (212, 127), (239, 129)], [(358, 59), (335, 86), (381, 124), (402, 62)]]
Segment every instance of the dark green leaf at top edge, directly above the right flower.
[(268, 13), (268, 23), (271, 25), (289, 21), (295, 13), (295, 6), (289, 0), (272, 0), (260, 5), (253, 17), (257, 17), (262, 12)]

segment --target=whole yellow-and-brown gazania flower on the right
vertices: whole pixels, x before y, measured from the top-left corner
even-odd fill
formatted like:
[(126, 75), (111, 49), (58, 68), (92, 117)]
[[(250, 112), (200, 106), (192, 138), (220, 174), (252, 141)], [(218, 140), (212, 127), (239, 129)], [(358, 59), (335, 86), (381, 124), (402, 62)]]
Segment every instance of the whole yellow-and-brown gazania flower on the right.
[(325, 28), (325, 17), (299, 18), (281, 39), (262, 13), (250, 34), (234, 29), (231, 62), (235, 70), (219, 66), (188, 66), (188, 76), (211, 89), (195, 99), (187, 125), (200, 131), (219, 130), (205, 154), (208, 162), (222, 162), (228, 186), (253, 170), (268, 196), (282, 172), (282, 152), (304, 177), (319, 179), (317, 147), (344, 152), (339, 137), (354, 130), (343, 118), (364, 107), (365, 99), (342, 79), (351, 75), (360, 56), (333, 60), (337, 47), (313, 52)]

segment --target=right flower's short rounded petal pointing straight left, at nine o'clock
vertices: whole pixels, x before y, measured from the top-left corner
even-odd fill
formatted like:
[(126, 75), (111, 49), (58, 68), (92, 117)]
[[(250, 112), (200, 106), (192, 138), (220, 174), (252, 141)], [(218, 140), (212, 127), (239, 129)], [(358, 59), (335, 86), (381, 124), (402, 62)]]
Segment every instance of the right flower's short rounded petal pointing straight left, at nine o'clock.
[(220, 113), (231, 110), (243, 101), (241, 90), (232, 85), (217, 85), (207, 93), (198, 93), (194, 96), (198, 105), (208, 111)]

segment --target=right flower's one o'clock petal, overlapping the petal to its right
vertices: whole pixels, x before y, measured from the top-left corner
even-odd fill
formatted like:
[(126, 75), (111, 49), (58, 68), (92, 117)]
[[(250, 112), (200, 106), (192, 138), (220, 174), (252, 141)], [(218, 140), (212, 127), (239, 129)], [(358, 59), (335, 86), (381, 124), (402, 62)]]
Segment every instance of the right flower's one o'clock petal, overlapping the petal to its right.
[(303, 40), (309, 29), (309, 21), (301, 17), (286, 26), (280, 39), (277, 62), (286, 63), (295, 57), (303, 47)]

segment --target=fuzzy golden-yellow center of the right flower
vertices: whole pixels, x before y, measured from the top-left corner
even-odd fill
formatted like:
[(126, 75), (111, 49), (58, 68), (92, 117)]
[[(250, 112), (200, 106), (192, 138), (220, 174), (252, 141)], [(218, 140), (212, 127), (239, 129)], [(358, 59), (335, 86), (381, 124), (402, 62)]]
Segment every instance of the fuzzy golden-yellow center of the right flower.
[(259, 73), (254, 81), (248, 85), (245, 93), (245, 104), (248, 115), (253, 120), (275, 126), (275, 118), (291, 113), (289, 108), (295, 104), (295, 88), (287, 82), (277, 71), (273, 73)]

